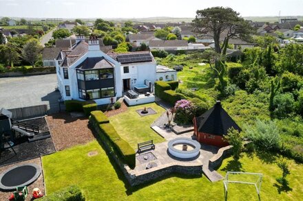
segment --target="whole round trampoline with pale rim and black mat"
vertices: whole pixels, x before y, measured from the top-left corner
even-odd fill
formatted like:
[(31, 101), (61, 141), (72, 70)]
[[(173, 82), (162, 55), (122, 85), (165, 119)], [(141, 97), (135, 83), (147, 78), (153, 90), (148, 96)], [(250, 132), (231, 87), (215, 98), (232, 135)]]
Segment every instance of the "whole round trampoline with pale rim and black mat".
[(17, 187), (30, 185), (41, 174), (39, 165), (28, 163), (15, 165), (0, 174), (0, 189), (14, 190)]

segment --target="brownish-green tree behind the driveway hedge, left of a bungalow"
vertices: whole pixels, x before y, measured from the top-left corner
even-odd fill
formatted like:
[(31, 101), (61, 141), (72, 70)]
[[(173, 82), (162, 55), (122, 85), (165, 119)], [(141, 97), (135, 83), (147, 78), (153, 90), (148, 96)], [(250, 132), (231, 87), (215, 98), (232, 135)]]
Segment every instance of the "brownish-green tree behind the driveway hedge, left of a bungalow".
[(43, 47), (39, 45), (37, 40), (30, 40), (22, 49), (22, 57), (34, 67), (34, 63), (39, 59), (42, 49)]

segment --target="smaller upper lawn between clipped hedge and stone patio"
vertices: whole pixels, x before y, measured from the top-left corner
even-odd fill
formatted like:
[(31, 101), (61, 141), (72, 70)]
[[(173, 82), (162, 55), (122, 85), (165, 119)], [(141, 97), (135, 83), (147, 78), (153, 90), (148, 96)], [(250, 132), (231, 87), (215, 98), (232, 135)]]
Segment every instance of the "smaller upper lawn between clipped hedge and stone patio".
[[(153, 108), (157, 114), (140, 117), (140, 115), (136, 113), (136, 110), (143, 109), (144, 107)], [(150, 128), (151, 123), (158, 119), (158, 117), (160, 117), (164, 112), (165, 109), (155, 103), (144, 104), (129, 107), (126, 113), (120, 113), (109, 117), (109, 121), (112, 123), (118, 134), (120, 134), (120, 136), (132, 147), (136, 148), (137, 143), (142, 143), (151, 139), (154, 140), (154, 143), (165, 141)]]

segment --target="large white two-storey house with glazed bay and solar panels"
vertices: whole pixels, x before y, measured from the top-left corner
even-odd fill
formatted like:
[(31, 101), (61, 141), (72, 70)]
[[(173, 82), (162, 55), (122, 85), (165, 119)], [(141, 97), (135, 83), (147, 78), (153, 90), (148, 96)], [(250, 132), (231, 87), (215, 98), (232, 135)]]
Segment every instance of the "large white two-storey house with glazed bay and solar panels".
[(63, 100), (94, 99), (102, 105), (116, 102), (123, 91), (154, 84), (156, 62), (149, 51), (105, 54), (99, 40), (85, 42), (83, 36), (78, 36), (70, 49), (61, 51), (56, 72)]

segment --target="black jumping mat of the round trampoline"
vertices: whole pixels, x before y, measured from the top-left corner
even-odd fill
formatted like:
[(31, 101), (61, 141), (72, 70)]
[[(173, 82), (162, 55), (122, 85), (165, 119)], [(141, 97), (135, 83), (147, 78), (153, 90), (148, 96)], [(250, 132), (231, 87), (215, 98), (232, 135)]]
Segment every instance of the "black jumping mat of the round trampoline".
[(3, 175), (1, 183), (6, 187), (22, 185), (31, 180), (35, 176), (36, 172), (36, 167), (31, 165), (16, 167)]

